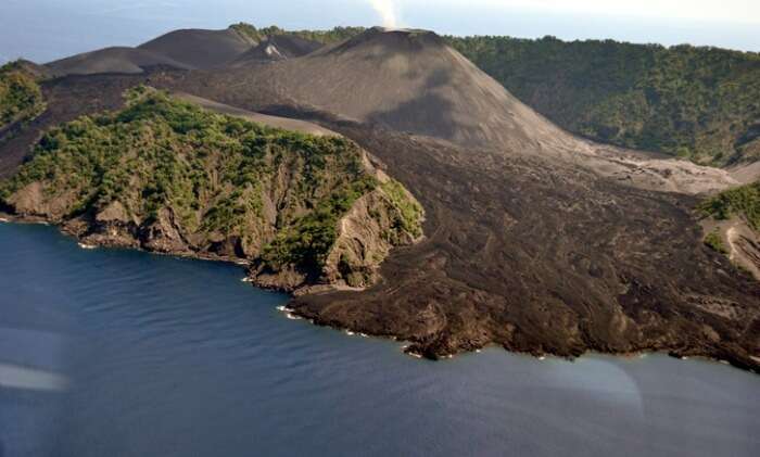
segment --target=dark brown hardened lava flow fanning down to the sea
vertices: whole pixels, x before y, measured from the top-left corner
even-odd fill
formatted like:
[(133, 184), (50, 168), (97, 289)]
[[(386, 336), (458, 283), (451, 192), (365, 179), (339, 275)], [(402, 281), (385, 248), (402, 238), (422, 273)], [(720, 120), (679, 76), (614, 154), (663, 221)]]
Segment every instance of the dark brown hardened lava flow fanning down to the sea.
[(692, 198), (543, 157), (344, 126), (427, 210), (428, 240), (364, 293), (296, 297), (318, 323), (414, 342), (429, 357), (487, 344), (532, 354), (666, 351), (760, 368), (760, 288), (705, 247)]

